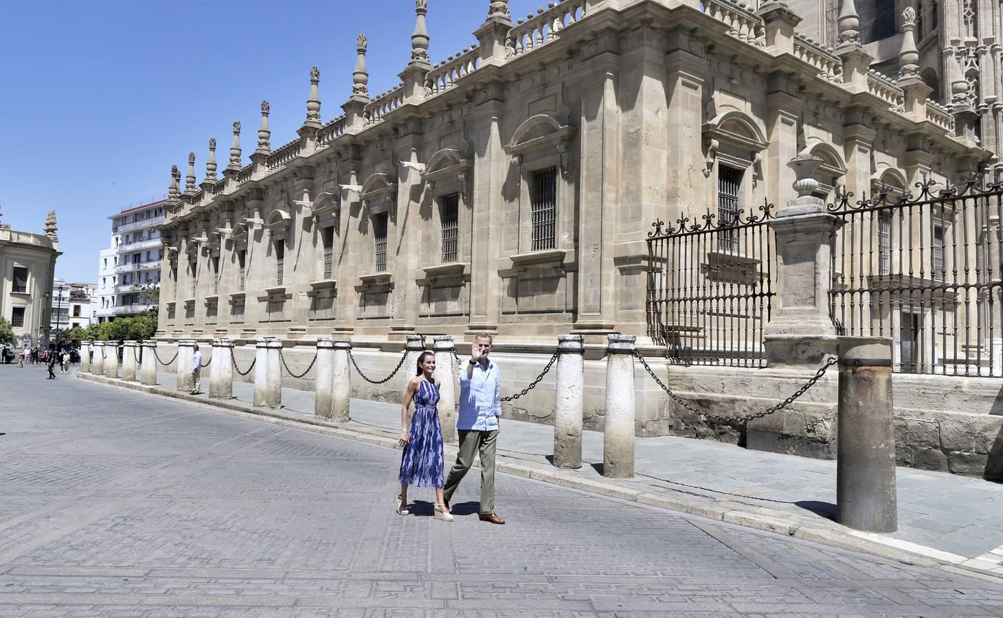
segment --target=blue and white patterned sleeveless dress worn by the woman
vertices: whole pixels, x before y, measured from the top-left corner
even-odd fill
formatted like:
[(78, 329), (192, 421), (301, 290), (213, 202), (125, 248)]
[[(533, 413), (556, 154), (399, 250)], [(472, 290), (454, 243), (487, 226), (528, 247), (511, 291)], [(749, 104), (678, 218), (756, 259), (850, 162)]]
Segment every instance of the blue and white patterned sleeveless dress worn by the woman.
[(408, 442), (400, 459), (400, 484), (419, 488), (445, 486), (442, 459), (442, 427), (438, 422), (438, 386), (422, 378), (414, 393), (414, 414)]

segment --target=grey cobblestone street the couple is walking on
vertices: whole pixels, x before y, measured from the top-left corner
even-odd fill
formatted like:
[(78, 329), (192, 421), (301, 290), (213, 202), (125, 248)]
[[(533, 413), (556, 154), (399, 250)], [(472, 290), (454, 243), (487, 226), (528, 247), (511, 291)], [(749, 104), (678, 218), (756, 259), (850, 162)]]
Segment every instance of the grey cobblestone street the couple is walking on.
[[(0, 616), (1003, 616), (1003, 586), (0, 366)], [(503, 431), (505, 428), (503, 427)]]

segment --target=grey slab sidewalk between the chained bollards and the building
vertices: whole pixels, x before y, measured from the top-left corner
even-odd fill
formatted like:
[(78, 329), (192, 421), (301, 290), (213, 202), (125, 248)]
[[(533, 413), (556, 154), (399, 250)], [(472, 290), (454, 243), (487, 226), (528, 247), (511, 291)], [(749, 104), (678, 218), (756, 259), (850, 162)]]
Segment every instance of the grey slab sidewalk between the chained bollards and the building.
[[(159, 373), (157, 377), (169, 387), (176, 381), (173, 373)], [(232, 401), (238, 407), (251, 409), (253, 394), (251, 384), (235, 382)], [(280, 413), (313, 420), (312, 391), (283, 388), (282, 396)], [(196, 398), (210, 401), (206, 395)], [(351, 412), (351, 422), (342, 427), (387, 438), (399, 432), (398, 404), (352, 399)], [(548, 459), (553, 452), (553, 427), (516, 420), (503, 422), (498, 454), (504, 460), (539, 467), (541, 474), (555, 470)], [(817, 526), (845, 537), (850, 546), (854, 546), (854, 539), (868, 539), (1003, 575), (1003, 485), (899, 468), (899, 530), (891, 535), (867, 535), (831, 525), (835, 512), (834, 461), (747, 450), (709, 440), (656, 436), (636, 442), (635, 480), (609, 481), (600, 473), (603, 435), (597, 431), (584, 433), (583, 460), (586, 465), (580, 471), (561, 471), (566, 481), (574, 481), (574, 487), (580, 489), (655, 506), (675, 506), (684, 512), (773, 532), (796, 534), (799, 527)], [(541, 475), (534, 478), (544, 479)], [(590, 488), (590, 484), (603, 487)], [(624, 491), (618, 493), (617, 488)], [(639, 493), (644, 498), (639, 499)], [(697, 502), (674, 504), (673, 497)], [(959, 509), (959, 505), (964, 508)], [(721, 508), (728, 513), (721, 515)], [(760, 511), (756, 513), (755, 509)], [(804, 534), (806, 538), (823, 540), (808, 530)], [(839, 541), (835, 537), (832, 540)]]

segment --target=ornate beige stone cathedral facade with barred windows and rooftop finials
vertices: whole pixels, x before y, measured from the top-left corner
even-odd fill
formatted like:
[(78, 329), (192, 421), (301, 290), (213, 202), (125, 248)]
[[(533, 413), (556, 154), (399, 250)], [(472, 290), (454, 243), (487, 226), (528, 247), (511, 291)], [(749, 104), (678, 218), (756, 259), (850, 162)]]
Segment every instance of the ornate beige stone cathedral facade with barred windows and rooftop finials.
[(379, 43), (360, 35), (342, 113), (322, 115), (315, 67), (296, 138), (272, 146), (265, 101), (250, 164), (235, 123), (222, 172), (215, 139), (201, 183), (195, 153), (184, 186), (174, 169), (159, 337), (643, 343), (653, 222), (699, 218), (724, 192), (745, 212), (782, 204), (799, 153), (823, 160), (827, 198), (994, 163), (998, 44), (978, 43), (974, 86), (947, 51), (932, 79), (919, 14), (893, 2), (902, 36), (879, 72), (852, 0), (831, 46), (810, 19), (803, 34), (808, 4), (563, 0), (514, 20), (485, 0), (478, 44), (432, 64), (417, 0), (399, 85), (369, 91)]

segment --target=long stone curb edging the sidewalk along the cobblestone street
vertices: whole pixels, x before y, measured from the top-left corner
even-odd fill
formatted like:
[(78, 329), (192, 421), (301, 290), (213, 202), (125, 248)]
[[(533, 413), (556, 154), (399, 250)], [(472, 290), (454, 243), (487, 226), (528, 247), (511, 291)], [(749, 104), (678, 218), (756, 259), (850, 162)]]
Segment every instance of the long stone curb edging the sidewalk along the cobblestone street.
[[(250, 417), (256, 420), (264, 420), (276, 424), (294, 426), (300, 429), (307, 429), (342, 437), (354, 439), (378, 446), (397, 448), (397, 438), (369, 427), (346, 426), (346, 423), (335, 423), (301, 413), (291, 414), (265, 407), (254, 407), (249, 403), (237, 401), (236, 399), (210, 399), (198, 397), (186, 392), (175, 390), (171, 387), (160, 385), (147, 386), (138, 382), (127, 382), (120, 378), (108, 378), (103, 375), (91, 373), (75, 372), (75, 377), (87, 381), (104, 384), (108, 386), (124, 388), (138, 391), (149, 395), (163, 396), (181, 399), (190, 403), (196, 403), (215, 410), (222, 410), (239, 416)], [(445, 444), (446, 456), (454, 456), (456, 446)], [(507, 455), (506, 451), (499, 449), (498, 455)], [(713, 500), (709, 498), (691, 496), (683, 492), (666, 488), (670, 494), (656, 494), (646, 489), (631, 489), (621, 487), (593, 479), (575, 477), (576, 471), (565, 471), (557, 468), (541, 468), (526, 464), (515, 464), (512, 461), (497, 461), (495, 471), (531, 479), (542, 483), (557, 485), (573, 490), (579, 490), (589, 494), (595, 494), (607, 498), (614, 498), (626, 502), (633, 502), (639, 505), (665, 509), (688, 516), (700, 517), (717, 522), (733, 524), (744, 528), (778, 534), (782, 536), (819, 543), (822, 545), (835, 547), (843, 550), (861, 552), (894, 560), (908, 565), (923, 567), (941, 566), (950, 568), (953, 573), (967, 573), (980, 579), (991, 578), (992, 581), (1003, 582), (1003, 577), (998, 573), (962, 566), (958, 563), (939, 560), (886, 545), (884, 543), (854, 536), (845, 532), (838, 524), (830, 523), (831, 528), (825, 527), (827, 520), (808, 520), (807, 518), (791, 517), (790, 514), (765, 507), (756, 507), (735, 501)]]

